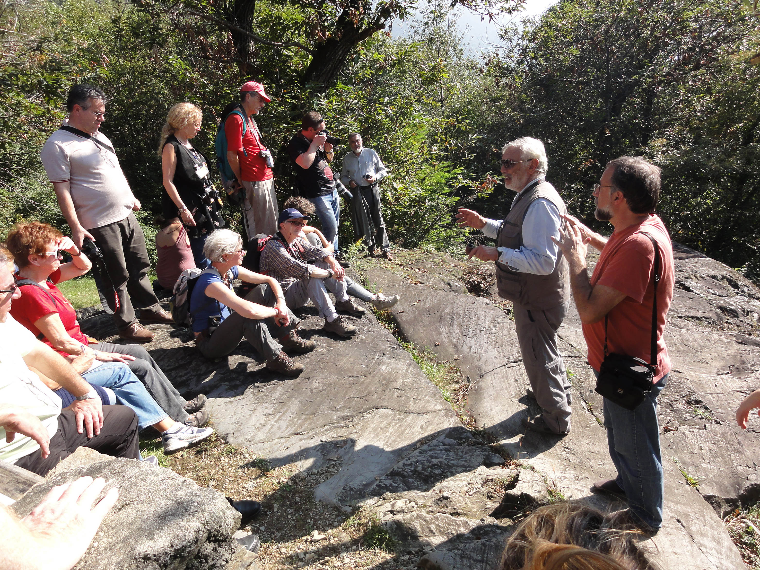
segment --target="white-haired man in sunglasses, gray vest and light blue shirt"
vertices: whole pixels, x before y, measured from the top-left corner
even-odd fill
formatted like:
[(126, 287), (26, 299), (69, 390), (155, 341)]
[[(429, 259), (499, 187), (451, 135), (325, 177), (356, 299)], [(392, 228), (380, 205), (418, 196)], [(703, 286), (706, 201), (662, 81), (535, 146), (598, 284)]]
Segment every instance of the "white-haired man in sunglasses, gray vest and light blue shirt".
[(557, 348), (556, 332), (570, 300), (568, 264), (552, 237), (567, 214), (565, 203), (546, 182), (546, 150), (535, 138), (518, 138), (502, 148), (504, 185), (517, 192), (504, 220), (489, 220), (460, 208), (460, 227), (482, 230), (496, 247), (478, 245), (470, 258), (496, 262), (499, 296), (512, 302), (515, 331), (541, 415), (524, 417), (530, 431), (567, 435), (570, 432), (570, 383)]

